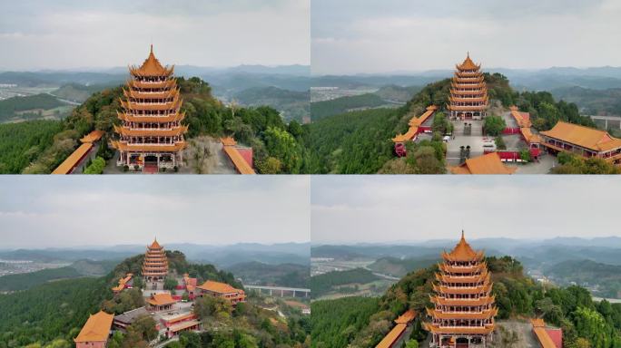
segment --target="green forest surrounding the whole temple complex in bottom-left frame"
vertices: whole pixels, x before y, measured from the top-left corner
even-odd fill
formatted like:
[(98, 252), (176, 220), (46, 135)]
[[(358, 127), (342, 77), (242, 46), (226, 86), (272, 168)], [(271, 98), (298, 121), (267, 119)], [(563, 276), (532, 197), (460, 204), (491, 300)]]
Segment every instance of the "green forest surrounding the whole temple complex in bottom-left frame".
[[(210, 279), (242, 288), (235, 277), (228, 272), (218, 270), (212, 265), (196, 265), (187, 262), (178, 251), (167, 251), (170, 271), (175, 275), (189, 273), (197, 277), (199, 283)], [(126, 289), (121, 295), (114, 296), (111, 288), (119, 277), (128, 272), (140, 275), (143, 255), (124, 259), (113, 270), (102, 277), (84, 277), (79, 279), (58, 280), (53, 283), (37, 285), (28, 290), (10, 295), (0, 295), (0, 346), (25, 346), (31, 343), (54, 343), (59, 347), (68, 346), (88, 318), (100, 309), (108, 313), (121, 314), (143, 305), (142, 294), (134, 284), (133, 289)], [(295, 311), (290, 313), (287, 321), (278, 314), (261, 309), (253, 304), (254, 299), (245, 305), (223, 307), (222, 313), (212, 313), (208, 330), (200, 335), (190, 333), (188, 337), (206, 342), (231, 342), (235, 344), (240, 337), (248, 337), (254, 345), (261, 343), (264, 347), (304, 346), (307, 341), (307, 320)], [(261, 302), (261, 298), (257, 299)], [(228, 309), (227, 309), (228, 308)], [(205, 318), (207, 319), (207, 318)], [(217, 324), (213, 329), (213, 324)], [(133, 330), (133, 334), (115, 334), (111, 344), (114, 346), (144, 346), (147, 331)], [(143, 329), (140, 329), (143, 330)], [(204, 341), (203, 341), (204, 342)], [(209, 343), (205, 346), (212, 346)], [(306, 343), (308, 344), (308, 343)], [(37, 345), (39, 346), (39, 345)]]

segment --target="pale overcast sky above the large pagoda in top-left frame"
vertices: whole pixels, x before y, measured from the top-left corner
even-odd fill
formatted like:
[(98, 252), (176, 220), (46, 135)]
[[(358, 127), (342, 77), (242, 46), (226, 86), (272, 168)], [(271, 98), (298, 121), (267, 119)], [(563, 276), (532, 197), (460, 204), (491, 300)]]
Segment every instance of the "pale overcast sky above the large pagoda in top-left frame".
[(0, 70), (309, 64), (310, 0), (0, 2)]

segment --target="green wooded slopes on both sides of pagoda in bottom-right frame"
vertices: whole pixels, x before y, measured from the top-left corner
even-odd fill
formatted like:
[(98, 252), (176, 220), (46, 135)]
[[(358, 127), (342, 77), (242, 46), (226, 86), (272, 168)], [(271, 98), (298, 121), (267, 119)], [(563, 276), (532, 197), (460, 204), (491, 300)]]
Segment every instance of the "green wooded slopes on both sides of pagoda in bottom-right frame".
[[(486, 262), (492, 272), (493, 295), (496, 296), (498, 319), (518, 317), (543, 317), (547, 323), (563, 328), (564, 346), (587, 346), (612, 348), (621, 344), (621, 304), (606, 301), (595, 303), (585, 288), (544, 288), (523, 274), (521, 264), (509, 256), (487, 257)], [(424, 313), (430, 306), (434, 274), (438, 266), (422, 268), (404, 276), (379, 299), (374, 307), (362, 310), (362, 305), (346, 305), (346, 301), (365, 303), (370, 300), (347, 298), (340, 300), (316, 301), (313, 311), (331, 309), (327, 314), (330, 321), (341, 320), (343, 324), (331, 328), (331, 335), (322, 335), (316, 328), (326, 327), (322, 317), (313, 317), (313, 346), (344, 348), (350, 344), (357, 347), (373, 347), (389, 332), (393, 320), (412, 308)], [(329, 309), (330, 308), (330, 309)], [(314, 312), (317, 313), (317, 312)], [(328, 319), (327, 319), (328, 320)], [(414, 323), (412, 337), (422, 340), (426, 336), (422, 330), (420, 317)], [(347, 337), (343, 340), (341, 337)]]

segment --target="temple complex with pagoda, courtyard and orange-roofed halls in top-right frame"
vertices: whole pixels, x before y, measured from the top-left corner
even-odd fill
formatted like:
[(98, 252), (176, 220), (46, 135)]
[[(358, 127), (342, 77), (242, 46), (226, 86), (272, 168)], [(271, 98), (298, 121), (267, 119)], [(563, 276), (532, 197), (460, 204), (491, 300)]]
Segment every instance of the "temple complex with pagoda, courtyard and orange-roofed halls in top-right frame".
[[(529, 112), (515, 105), (508, 109), (499, 103), (491, 105), (485, 79), (481, 65), (474, 63), (468, 53), (456, 65), (449, 103), (443, 109), (429, 105), (421, 115), (412, 115), (409, 131), (392, 139), (395, 155), (407, 156), (409, 142), (431, 140), (436, 115), (446, 111), (450, 124), (440, 136), (452, 174), (545, 174), (558, 165), (558, 153), (585, 160), (601, 159), (613, 165), (621, 163), (621, 139), (567, 121), (557, 121), (549, 131), (537, 131)], [(495, 131), (498, 134), (486, 130), (487, 119), (493, 118), (502, 120), (502, 129)]]

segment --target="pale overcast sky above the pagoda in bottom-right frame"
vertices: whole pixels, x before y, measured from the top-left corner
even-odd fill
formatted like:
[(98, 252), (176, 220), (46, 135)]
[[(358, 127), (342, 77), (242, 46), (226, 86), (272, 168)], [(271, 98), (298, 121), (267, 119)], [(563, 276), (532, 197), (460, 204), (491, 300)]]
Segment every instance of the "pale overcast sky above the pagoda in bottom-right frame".
[(311, 241), (621, 237), (614, 176), (313, 176)]

